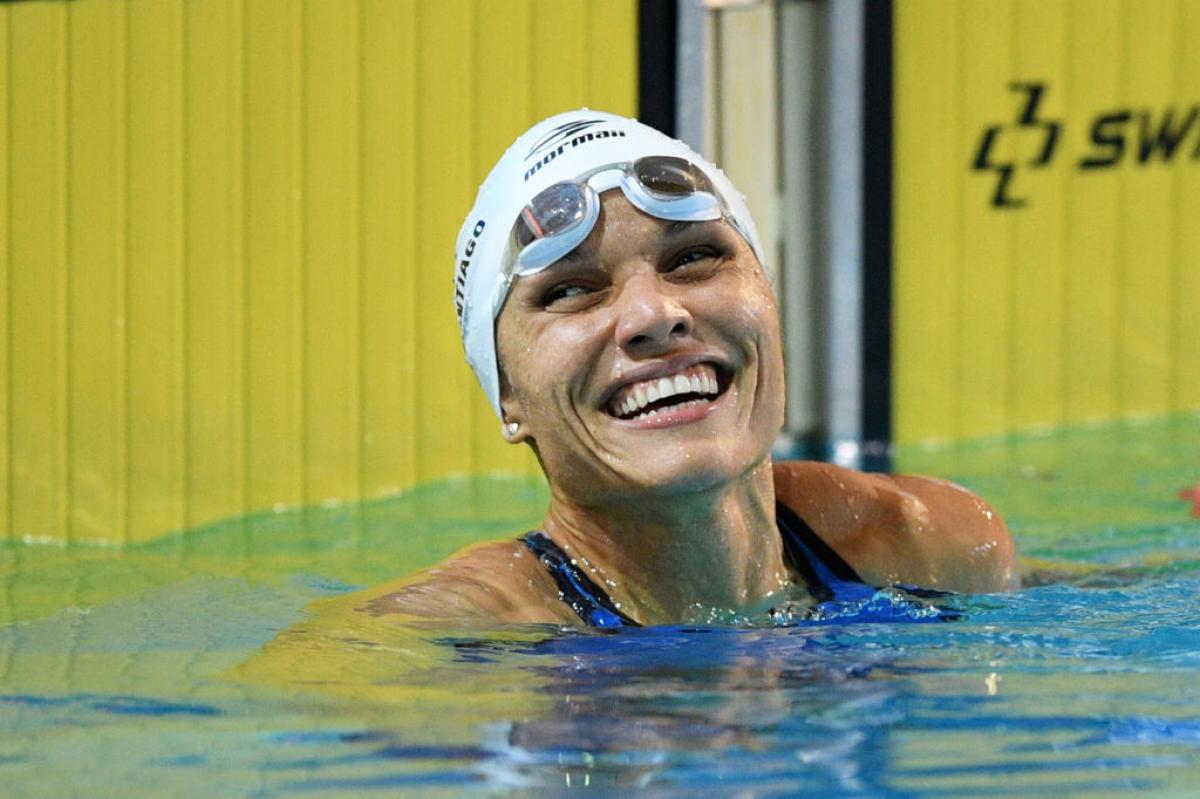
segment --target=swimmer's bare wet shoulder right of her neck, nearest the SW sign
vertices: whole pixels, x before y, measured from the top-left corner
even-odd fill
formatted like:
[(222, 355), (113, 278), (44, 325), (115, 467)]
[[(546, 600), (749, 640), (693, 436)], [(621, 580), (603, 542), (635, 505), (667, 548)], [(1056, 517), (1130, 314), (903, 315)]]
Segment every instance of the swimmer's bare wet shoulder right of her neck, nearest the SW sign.
[(870, 583), (964, 593), (1015, 587), (1007, 525), (953, 482), (802, 461), (775, 464), (775, 494)]

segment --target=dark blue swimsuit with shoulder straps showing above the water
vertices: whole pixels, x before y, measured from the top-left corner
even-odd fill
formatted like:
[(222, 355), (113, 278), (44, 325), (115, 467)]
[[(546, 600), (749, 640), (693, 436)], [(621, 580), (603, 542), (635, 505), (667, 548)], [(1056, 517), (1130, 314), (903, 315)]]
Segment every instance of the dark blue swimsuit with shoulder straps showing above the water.
[[(817, 603), (858, 602), (876, 594), (877, 589), (864, 583), (850, 564), (822, 541), (804, 519), (779, 503), (775, 504), (775, 524), (784, 540), (784, 555)], [(544, 533), (527, 533), (522, 541), (550, 571), (563, 601), (589, 627), (640, 626), (622, 613), (608, 594)], [(947, 596), (943, 591), (923, 591), (907, 587), (905, 590), (922, 597)]]

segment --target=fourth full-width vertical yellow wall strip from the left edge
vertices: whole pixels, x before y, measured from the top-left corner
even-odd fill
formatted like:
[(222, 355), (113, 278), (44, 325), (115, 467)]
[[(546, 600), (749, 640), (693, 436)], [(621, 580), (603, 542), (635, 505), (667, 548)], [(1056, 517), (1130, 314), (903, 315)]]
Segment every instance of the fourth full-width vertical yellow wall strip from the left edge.
[(236, 0), (186, 4), (184, 14), (185, 523), (191, 525), (246, 509), (244, 31)]

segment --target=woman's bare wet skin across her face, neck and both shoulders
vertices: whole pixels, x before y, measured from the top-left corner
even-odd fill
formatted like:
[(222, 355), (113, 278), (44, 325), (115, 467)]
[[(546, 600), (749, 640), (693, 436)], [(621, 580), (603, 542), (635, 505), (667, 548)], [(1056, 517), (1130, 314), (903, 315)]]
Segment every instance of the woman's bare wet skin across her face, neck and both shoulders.
[[(724, 221), (665, 222), (605, 193), (578, 248), (515, 281), (497, 342), (505, 438), (534, 446), (551, 486), (542, 530), (642, 624), (794, 595), (776, 497), (869, 582), (1012, 585), (1008, 531), (965, 489), (828, 464), (773, 468), (778, 311), (752, 250)], [(680, 373), (674, 390), (686, 390), (641, 407)], [(358, 602), (372, 613), (578, 623), (511, 540)]]

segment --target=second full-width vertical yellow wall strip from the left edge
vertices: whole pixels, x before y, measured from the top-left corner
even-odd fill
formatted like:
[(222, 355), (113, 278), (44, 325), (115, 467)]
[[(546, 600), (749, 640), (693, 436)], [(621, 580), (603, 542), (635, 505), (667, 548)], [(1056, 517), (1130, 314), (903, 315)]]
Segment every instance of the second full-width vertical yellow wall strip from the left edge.
[(71, 536), (125, 525), (125, 10), (68, 16)]

